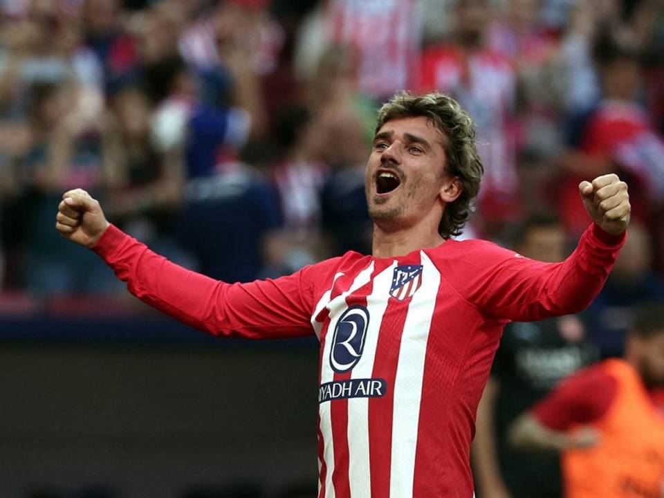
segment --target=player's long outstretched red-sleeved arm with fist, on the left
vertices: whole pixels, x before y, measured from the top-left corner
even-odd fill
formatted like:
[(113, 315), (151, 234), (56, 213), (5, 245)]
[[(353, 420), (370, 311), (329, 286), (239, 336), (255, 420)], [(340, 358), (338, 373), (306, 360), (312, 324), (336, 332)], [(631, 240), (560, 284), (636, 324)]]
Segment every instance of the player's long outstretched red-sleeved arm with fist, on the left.
[(250, 284), (219, 282), (173, 264), (124, 234), (84, 190), (63, 197), (57, 230), (97, 252), (133, 295), (154, 308), (214, 335), (279, 338), (313, 333), (311, 268)]

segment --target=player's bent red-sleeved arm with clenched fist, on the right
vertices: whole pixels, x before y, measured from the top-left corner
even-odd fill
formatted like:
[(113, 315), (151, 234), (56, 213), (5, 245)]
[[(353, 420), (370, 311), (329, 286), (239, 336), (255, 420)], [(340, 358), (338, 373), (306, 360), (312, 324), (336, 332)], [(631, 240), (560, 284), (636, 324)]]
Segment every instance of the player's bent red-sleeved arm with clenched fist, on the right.
[(578, 313), (600, 292), (625, 241), (629, 223), (627, 185), (618, 176), (600, 176), (579, 185), (593, 221), (572, 255), (562, 263), (542, 263), (476, 243), (466, 258), (468, 276), (459, 292), (486, 315), (500, 320), (542, 320)]

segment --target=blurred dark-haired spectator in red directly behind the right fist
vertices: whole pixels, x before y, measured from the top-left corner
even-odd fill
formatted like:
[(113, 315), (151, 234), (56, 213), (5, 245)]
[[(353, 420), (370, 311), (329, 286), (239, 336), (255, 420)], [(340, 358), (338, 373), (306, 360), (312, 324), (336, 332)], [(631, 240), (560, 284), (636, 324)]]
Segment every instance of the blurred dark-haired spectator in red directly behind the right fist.
[(559, 201), (564, 223), (572, 234), (583, 230), (584, 214), (570, 203), (575, 185), (584, 175), (622, 172), (645, 195), (634, 205), (635, 215), (648, 223), (653, 208), (664, 199), (664, 141), (652, 127), (647, 111), (638, 103), (643, 89), (640, 53), (607, 34), (596, 44), (596, 62), (603, 96), (584, 120), (575, 145), (562, 158), (567, 173), (562, 178)]

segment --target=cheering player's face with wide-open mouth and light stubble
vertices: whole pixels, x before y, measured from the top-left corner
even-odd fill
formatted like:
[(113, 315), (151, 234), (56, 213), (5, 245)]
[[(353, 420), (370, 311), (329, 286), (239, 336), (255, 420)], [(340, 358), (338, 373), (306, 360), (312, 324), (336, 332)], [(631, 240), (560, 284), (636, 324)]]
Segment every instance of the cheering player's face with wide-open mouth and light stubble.
[(369, 215), (383, 230), (412, 226), (426, 216), (440, 221), (446, 140), (427, 118), (386, 122), (374, 138), (365, 173)]

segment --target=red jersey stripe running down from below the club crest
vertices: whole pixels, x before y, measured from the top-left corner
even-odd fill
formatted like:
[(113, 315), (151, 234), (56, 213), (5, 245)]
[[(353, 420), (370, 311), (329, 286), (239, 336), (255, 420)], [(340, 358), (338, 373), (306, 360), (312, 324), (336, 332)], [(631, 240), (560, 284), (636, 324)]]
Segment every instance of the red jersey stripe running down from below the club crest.
[(409, 303), (389, 298), (376, 346), (372, 377), (383, 378), (387, 382), (385, 396), (369, 399), (371, 496), (376, 497), (389, 497), (394, 379), (396, 378), (403, 324), (406, 320)]

